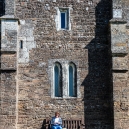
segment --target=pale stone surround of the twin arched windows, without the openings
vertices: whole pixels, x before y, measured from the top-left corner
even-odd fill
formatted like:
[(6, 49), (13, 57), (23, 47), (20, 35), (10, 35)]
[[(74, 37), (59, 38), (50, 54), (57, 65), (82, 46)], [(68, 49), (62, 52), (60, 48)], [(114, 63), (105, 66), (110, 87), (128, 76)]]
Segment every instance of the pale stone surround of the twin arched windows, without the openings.
[[(62, 97), (55, 97), (54, 96), (54, 66), (55, 63), (59, 62), (62, 66)], [(76, 65), (77, 69), (77, 96), (76, 97), (69, 97), (69, 89), (68, 89), (68, 72), (69, 72), (69, 63), (73, 62)], [(51, 59), (48, 61), (48, 77), (50, 82), (50, 94), (51, 98), (61, 99), (61, 98), (81, 98), (80, 93), (80, 77), (79, 77), (79, 63), (78, 61), (69, 61), (65, 59)]]

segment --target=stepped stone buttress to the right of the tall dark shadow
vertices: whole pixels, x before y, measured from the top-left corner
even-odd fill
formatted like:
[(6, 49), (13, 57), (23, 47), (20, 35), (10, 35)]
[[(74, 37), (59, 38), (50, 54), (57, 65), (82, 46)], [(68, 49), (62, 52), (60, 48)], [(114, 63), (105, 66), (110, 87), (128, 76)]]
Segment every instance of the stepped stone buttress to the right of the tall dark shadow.
[[(125, 129), (123, 119), (126, 117), (126, 105), (124, 90), (127, 88), (128, 77), (128, 34), (122, 12), (121, 3), (113, 1), (113, 19), (110, 21), (111, 52), (112, 52), (112, 75), (113, 75), (113, 104), (114, 104), (114, 129)], [(124, 90), (122, 90), (124, 89)], [(127, 119), (126, 119), (127, 120)]]

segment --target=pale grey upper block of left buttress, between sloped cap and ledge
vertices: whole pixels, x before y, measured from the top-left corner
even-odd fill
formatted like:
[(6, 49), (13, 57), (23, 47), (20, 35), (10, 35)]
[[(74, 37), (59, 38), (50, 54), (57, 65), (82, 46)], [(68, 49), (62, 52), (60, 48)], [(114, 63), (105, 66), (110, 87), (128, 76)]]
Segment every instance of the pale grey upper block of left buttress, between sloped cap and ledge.
[(17, 50), (17, 20), (1, 20), (1, 50), (16, 51)]

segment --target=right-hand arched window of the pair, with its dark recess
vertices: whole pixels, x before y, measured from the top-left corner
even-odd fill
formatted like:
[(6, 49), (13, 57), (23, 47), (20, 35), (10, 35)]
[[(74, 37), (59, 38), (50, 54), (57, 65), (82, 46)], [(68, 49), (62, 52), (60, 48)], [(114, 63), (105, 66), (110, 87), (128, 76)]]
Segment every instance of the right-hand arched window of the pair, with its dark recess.
[(77, 97), (77, 70), (74, 63), (69, 63), (69, 96)]

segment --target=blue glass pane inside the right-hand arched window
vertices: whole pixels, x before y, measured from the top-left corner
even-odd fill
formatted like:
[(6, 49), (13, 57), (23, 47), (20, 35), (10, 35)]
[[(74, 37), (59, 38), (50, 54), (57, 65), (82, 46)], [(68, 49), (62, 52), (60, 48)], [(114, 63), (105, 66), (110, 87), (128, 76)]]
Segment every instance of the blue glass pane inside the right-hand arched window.
[(73, 67), (69, 66), (69, 96), (74, 96), (74, 74), (73, 74)]

